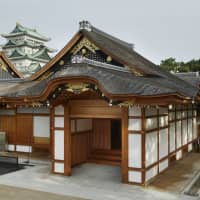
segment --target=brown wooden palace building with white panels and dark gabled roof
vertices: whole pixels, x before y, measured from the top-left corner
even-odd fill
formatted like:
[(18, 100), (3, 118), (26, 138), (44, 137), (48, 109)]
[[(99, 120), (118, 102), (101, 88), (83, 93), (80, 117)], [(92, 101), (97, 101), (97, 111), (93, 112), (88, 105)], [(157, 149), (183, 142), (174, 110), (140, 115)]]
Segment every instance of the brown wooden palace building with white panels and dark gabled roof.
[(31, 77), (22, 79), (3, 53), (0, 66), (8, 149), (49, 149), (52, 173), (120, 165), (124, 183), (145, 185), (197, 143), (199, 78), (163, 71), (88, 21)]

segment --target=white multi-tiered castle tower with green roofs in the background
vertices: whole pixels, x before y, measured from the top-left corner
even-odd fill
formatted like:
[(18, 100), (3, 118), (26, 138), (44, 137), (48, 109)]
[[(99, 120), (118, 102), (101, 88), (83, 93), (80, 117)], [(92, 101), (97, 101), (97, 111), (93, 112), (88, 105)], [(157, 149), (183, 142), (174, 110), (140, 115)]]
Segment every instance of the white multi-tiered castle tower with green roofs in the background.
[(19, 23), (10, 33), (2, 36), (7, 40), (2, 46), (4, 53), (24, 77), (41, 69), (51, 60), (50, 53), (55, 52), (45, 45), (50, 38)]

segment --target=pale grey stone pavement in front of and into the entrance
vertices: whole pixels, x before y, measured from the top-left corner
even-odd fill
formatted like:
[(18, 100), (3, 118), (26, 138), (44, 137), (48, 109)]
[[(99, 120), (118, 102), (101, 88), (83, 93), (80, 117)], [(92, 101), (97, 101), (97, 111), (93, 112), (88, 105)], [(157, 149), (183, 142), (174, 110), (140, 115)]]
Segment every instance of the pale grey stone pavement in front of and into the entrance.
[(50, 174), (50, 166), (40, 164), (2, 175), (0, 184), (93, 200), (198, 199), (122, 184), (120, 170), (120, 167), (84, 164), (74, 168), (71, 177), (64, 177)]

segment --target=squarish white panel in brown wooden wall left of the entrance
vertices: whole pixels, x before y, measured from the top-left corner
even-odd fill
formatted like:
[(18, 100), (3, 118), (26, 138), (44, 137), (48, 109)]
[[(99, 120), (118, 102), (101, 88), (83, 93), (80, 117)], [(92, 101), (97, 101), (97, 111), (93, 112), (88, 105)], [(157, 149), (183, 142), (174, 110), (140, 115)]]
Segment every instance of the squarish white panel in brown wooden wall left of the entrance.
[(33, 136), (49, 137), (50, 136), (50, 118), (49, 116), (33, 117)]

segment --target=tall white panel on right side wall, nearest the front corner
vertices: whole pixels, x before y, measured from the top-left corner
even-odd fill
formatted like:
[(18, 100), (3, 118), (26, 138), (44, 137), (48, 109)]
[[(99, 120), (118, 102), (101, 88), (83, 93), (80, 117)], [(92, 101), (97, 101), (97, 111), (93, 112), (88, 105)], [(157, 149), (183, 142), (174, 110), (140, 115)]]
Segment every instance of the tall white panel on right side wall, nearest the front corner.
[(157, 131), (154, 131), (152, 133), (146, 134), (146, 154), (145, 154), (145, 159), (146, 159), (146, 167), (149, 165), (155, 163), (157, 160)]

